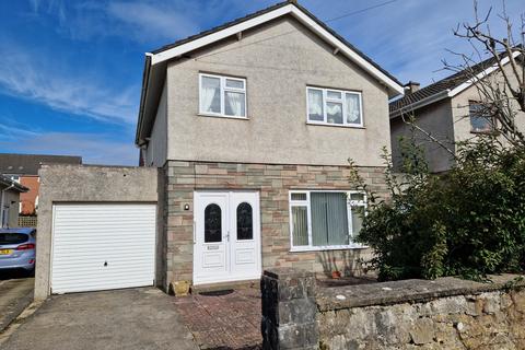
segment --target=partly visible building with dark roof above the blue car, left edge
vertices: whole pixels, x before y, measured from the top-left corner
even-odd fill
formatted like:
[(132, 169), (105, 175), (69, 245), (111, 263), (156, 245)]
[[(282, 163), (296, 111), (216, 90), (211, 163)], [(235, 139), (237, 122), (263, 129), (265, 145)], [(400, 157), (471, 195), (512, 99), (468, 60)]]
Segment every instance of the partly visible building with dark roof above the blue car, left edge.
[(0, 174), (0, 228), (18, 226), (20, 195), (27, 190), (18, 182)]

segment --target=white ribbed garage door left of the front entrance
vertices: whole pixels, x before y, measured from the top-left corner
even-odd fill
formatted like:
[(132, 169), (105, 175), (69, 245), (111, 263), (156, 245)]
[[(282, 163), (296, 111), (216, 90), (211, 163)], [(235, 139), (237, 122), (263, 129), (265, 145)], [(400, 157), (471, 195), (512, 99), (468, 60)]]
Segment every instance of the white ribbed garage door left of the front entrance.
[(54, 206), (51, 293), (152, 285), (154, 205)]

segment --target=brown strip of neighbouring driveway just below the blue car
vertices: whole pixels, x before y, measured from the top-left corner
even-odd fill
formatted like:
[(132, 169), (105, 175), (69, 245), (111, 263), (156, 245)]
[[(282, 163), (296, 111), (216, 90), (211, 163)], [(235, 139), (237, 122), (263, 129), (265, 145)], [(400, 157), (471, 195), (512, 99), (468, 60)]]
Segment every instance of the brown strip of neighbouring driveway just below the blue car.
[(34, 278), (0, 281), (0, 332), (33, 301)]

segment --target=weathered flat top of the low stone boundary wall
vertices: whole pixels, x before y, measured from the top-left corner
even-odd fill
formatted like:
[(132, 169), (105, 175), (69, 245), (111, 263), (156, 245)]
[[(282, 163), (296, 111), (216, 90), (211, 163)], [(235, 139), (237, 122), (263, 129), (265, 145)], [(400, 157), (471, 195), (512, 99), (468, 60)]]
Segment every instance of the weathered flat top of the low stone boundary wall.
[[(289, 272), (292, 273), (292, 272)], [(296, 270), (295, 270), (296, 273)], [(503, 273), (489, 276), (490, 282), (475, 282), (454, 277), (436, 280), (400, 280), (371, 284), (318, 289), (317, 307), (320, 312), (380, 306), (401, 303), (427, 302), (454, 295), (476, 295), (508, 288), (525, 288), (525, 276)], [(513, 283), (514, 281), (514, 283)]]

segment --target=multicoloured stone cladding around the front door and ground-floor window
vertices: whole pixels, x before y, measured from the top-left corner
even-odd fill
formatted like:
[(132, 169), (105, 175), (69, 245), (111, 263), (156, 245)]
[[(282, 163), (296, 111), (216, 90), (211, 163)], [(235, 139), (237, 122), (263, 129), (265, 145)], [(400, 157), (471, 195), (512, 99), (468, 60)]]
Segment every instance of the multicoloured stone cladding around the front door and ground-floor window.
[[(259, 191), (262, 269), (293, 267), (330, 273), (335, 259), (345, 275), (362, 273), (359, 258), (366, 259), (369, 249), (290, 253), (289, 190), (353, 189), (349, 166), (168, 161), (163, 171), (162, 234), (167, 244), (162, 247), (166, 257), (166, 279), (162, 282), (166, 289), (171, 282), (191, 282), (194, 191), (205, 189)], [(360, 167), (360, 174), (372, 190), (386, 196), (383, 167)], [(185, 205), (190, 209), (185, 210)]]

